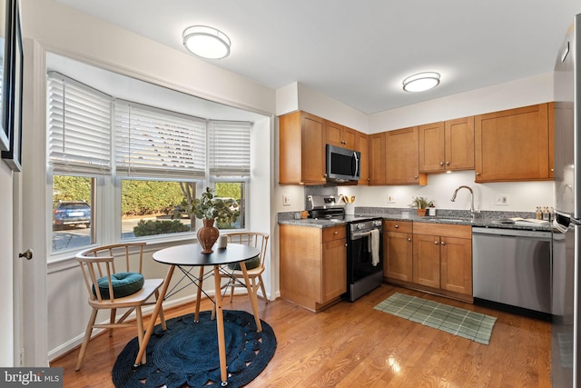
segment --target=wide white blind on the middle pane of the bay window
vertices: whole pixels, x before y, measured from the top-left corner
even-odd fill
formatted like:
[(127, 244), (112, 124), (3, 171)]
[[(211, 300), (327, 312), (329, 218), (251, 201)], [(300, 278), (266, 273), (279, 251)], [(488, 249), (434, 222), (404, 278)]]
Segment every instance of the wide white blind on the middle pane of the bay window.
[(205, 120), (122, 100), (114, 110), (117, 174), (205, 176)]

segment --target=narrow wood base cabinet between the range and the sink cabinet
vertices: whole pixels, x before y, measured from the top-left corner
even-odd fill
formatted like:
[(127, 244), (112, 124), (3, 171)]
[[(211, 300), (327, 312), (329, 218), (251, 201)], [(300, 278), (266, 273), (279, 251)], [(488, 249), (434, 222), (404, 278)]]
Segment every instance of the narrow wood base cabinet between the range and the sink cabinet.
[(383, 222), (383, 277), (388, 281), (413, 281), (412, 233), (411, 221)]

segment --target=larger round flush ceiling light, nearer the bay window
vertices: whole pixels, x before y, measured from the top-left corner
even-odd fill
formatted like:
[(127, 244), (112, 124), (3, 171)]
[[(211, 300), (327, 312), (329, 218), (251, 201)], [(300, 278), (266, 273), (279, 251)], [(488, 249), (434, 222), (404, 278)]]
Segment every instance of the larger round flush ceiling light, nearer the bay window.
[(230, 38), (207, 25), (192, 25), (183, 31), (183, 45), (193, 55), (205, 59), (222, 59), (230, 55)]

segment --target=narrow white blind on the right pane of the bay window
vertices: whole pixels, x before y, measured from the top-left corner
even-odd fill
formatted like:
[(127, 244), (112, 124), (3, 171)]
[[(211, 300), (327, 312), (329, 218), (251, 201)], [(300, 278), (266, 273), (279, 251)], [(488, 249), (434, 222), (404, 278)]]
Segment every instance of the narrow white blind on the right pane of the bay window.
[(208, 143), (211, 175), (250, 175), (251, 123), (210, 121)]

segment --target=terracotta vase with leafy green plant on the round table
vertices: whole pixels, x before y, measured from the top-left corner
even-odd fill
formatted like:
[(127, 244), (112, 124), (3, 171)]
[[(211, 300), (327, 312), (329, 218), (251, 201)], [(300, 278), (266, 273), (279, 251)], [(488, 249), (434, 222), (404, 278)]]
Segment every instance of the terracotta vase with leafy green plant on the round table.
[(236, 201), (231, 198), (218, 198), (210, 187), (206, 187), (202, 197), (194, 198), (190, 204), (182, 204), (179, 211), (174, 211), (174, 216), (181, 217), (182, 213), (187, 212), (201, 219), (203, 226), (198, 229), (196, 236), (202, 245), (202, 254), (212, 254), (212, 246), (220, 236), (220, 230), (214, 226), (214, 221), (220, 224), (235, 222), (240, 215), (237, 208)]

